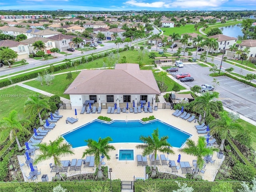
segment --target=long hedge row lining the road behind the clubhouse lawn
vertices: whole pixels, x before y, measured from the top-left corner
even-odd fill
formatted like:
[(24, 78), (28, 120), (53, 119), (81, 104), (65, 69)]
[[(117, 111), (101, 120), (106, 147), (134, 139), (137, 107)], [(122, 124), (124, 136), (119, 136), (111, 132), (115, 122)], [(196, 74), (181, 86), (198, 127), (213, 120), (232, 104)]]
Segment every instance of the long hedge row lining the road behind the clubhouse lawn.
[[(122, 52), (122, 51), (126, 51), (126, 49), (119, 49), (118, 50), (118, 52)], [(116, 54), (117, 50), (113, 50), (112, 52), (114, 54)], [(90, 56), (90, 57), (88, 57), (88, 62), (90, 62), (94, 59), (99, 59), (99, 58), (106, 57), (106, 56), (108, 56), (109, 53), (110, 52), (105, 52), (105, 53), (102, 53), (102, 54), (97, 54), (97, 55)], [(54, 66), (54, 72), (60, 71), (60, 70), (66, 69), (66, 68), (70, 68), (70, 67), (72, 67), (71, 62), (67, 62), (67, 63), (60, 64), (60, 65), (55, 65)], [(25, 73), (25, 74), (22, 74), (22, 75), (14, 76), (14, 77), (11, 78), (12, 82), (8, 79), (3, 79), (3, 80), (0, 80), (0, 87), (5, 87), (5, 86), (9, 86), (11, 84), (19, 83), (19, 82), (22, 82), (22, 81), (25, 81), (25, 80), (33, 79), (33, 78), (36, 78), (38, 76), (38, 73), (45, 74), (46, 72), (51, 73), (50, 68), (41, 69), (41, 70), (37, 70), (36, 72), (28, 72), (28, 73)]]

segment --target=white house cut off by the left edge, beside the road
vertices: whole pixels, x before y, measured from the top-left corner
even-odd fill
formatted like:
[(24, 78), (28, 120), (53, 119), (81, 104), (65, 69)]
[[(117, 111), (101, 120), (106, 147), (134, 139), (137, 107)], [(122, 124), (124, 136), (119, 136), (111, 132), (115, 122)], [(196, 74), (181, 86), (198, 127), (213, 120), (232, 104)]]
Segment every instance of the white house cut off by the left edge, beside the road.
[(18, 54), (18, 60), (29, 58), (28, 44), (12, 40), (0, 41), (0, 47), (8, 47)]

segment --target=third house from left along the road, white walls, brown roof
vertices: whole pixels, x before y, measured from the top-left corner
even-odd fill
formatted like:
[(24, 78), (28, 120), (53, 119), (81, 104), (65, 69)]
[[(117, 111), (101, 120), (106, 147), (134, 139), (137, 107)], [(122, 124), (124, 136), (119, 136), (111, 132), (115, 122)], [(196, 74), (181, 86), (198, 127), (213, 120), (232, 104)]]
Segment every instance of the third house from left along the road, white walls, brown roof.
[(74, 48), (74, 43), (72, 39), (75, 36), (71, 35), (64, 35), (64, 34), (57, 34), (51, 37), (48, 37), (50, 40), (54, 40), (55, 47), (58, 48), (60, 51), (66, 51), (68, 48)]

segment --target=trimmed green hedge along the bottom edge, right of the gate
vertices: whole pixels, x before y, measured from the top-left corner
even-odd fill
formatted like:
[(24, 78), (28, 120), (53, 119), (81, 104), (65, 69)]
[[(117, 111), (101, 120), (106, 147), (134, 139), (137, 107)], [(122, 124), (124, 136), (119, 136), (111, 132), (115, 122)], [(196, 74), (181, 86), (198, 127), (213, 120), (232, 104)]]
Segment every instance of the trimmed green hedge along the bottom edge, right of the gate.
[[(208, 182), (208, 181), (178, 181), (181, 185), (183, 183), (188, 184), (188, 187), (192, 187), (194, 192), (209, 192), (213, 186), (218, 185), (220, 182)], [(234, 192), (241, 189), (242, 182), (228, 182)], [(145, 189), (151, 189), (156, 187), (158, 192), (171, 192), (173, 190), (178, 190), (178, 184), (175, 181), (136, 181), (134, 182), (134, 189), (136, 192), (144, 192)]]

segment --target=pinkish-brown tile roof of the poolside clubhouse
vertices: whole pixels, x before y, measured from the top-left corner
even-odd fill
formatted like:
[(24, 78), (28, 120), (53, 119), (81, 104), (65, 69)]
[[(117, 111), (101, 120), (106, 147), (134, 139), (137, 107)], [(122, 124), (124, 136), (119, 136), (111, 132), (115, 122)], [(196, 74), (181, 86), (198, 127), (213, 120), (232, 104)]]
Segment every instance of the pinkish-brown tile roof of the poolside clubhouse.
[(151, 70), (116, 64), (114, 70), (82, 70), (64, 94), (160, 94), (160, 90)]

